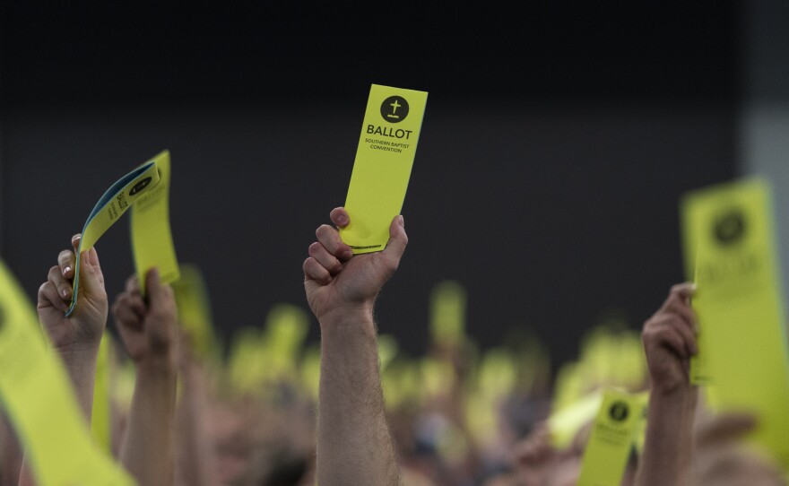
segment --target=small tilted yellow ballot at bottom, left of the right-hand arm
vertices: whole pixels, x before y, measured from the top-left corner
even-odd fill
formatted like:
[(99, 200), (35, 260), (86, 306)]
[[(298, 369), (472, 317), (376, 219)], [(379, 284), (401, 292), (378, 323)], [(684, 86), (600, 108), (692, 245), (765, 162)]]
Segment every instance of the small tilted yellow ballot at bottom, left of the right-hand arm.
[(586, 442), (577, 486), (620, 486), (644, 410), (641, 396), (613, 389), (603, 393), (603, 403)]

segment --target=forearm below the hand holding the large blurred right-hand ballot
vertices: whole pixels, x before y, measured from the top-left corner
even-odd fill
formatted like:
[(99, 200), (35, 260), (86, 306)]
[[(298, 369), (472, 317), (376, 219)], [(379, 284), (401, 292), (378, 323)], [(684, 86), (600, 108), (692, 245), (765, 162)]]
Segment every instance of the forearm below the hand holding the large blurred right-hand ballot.
[(693, 416), (698, 388), (683, 387), (669, 394), (653, 392), (649, 399), (644, 456), (637, 486), (689, 484), (693, 448)]

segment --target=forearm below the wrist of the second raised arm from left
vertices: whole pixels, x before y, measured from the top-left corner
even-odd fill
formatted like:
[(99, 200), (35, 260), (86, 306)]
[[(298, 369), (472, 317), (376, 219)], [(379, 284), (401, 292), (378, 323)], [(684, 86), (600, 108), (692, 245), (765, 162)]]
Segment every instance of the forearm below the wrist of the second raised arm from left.
[(176, 367), (171, 360), (137, 365), (120, 458), (139, 484), (172, 484), (176, 378)]

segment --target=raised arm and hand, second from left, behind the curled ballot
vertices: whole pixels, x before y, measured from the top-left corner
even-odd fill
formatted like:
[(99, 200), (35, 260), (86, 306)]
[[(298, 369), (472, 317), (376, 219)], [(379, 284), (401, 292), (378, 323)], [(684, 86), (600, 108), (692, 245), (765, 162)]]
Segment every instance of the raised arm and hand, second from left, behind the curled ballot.
[(134, 277), (112, 306), (137, 378), (120, 460), (139, 484), (172, 484), (176, 402), (176, 304), (154, 268), (146, 275), (147, 302)]

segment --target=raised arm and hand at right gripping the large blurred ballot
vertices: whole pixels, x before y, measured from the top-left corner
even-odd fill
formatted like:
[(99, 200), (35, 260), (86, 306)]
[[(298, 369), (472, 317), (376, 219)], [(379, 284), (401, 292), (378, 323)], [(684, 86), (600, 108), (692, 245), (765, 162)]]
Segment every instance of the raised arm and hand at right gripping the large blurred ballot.
[(642, 333), (652, 387), (644, 455), (637, 486), (689, 483), (693, 416), (698, 389), (689, 380), (690, 357), (698, 352), (691, 283), (674, 285)]

